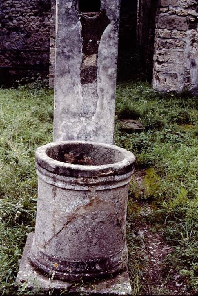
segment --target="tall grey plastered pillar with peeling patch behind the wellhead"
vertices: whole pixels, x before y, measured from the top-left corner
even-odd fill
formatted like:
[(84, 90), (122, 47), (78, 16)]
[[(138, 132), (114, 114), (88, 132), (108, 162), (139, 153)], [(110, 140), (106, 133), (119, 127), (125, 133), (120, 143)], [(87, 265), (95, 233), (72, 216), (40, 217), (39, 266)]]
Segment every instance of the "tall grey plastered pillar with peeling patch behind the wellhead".
[(58, 0), (54, 141), (113, 143), (120, 0)]

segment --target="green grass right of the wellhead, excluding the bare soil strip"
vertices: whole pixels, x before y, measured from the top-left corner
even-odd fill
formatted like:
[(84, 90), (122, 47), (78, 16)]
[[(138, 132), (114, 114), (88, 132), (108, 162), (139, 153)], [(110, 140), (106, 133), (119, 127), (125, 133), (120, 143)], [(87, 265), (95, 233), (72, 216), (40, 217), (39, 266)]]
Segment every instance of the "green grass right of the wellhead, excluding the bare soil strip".
[(144, 131), (126, 134), (119, 124), (115, 131), (116, 144), (136, 155), (137, 169), (145, 168), (144, 199), (157, 206), (153, 224), (162, 223), (174, 250), (169, 260), (186, 274), (194, 291), (198, 289), (197, 103), (190, 94), (159, 94), (148, 83), (121, 84), (117, 116), (140, 120)]

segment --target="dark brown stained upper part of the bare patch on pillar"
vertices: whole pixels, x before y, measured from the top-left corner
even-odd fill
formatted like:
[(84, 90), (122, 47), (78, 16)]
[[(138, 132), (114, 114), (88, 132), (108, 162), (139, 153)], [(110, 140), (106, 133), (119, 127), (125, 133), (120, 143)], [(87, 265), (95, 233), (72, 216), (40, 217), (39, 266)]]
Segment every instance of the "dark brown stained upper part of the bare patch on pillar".
[(92, 83), (97, 78), (98, 47), (104, 30), (110, 24), (106, 11), (81, 12), (83, 60), (80, 67), (81, 84)]

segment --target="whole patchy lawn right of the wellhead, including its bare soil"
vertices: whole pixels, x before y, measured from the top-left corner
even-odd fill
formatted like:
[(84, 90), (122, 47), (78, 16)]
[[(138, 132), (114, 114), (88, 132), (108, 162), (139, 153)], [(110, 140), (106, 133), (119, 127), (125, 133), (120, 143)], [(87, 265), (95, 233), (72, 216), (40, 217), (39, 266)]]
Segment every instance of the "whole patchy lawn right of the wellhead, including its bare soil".
[(128, 204), (133, 295), (198, 291), (198, 98), (158, 94), (146, 83), (117, 88), (117, 117), (139, 120), (142, 132), (116, 144), (137, 157)]

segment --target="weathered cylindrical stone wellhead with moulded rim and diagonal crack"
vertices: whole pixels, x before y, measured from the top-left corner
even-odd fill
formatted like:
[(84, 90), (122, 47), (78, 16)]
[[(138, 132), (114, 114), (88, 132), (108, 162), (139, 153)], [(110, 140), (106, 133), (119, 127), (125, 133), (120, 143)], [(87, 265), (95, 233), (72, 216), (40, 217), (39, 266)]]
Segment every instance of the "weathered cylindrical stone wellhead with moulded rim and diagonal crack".
[(135, 157), (110, 144), (62, 141), (36, 151), (34, 266), (78, 281), (127, 263), (126, 207)]

